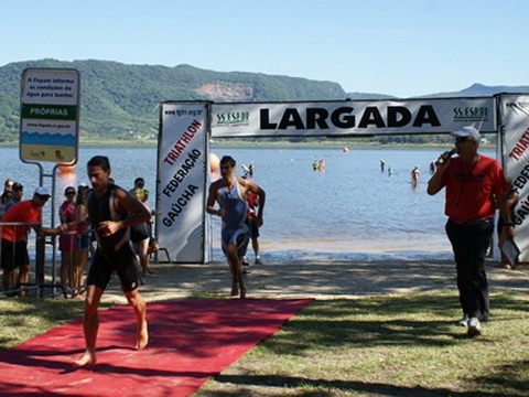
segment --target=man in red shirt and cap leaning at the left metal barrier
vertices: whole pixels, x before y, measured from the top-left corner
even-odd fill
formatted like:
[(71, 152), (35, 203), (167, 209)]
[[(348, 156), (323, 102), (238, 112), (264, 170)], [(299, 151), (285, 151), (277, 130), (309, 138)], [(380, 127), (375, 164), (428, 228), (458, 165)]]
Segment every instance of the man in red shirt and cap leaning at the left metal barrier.
[[(50, 193), (43, 186), (35, 189), (33, 198), (21, 201), (12, 205), (3, 215), (3, 223), (18, 223), (20, 225), (4, 225), (2, 236), (2, 283), (4, 291), (22, 288), (28, 283), (30, 273), (30, 259), (28, 255), (26, 234), (30, 228), (45, 235), (57, 235), (65, 230), (64, 225), (55, 228), (42, 227), (41, 211), (50, 198)], [(19, 269), (17, 278), (17, 269)], [(24, 290), (19, 292), (20, 297), (25, 294)]]

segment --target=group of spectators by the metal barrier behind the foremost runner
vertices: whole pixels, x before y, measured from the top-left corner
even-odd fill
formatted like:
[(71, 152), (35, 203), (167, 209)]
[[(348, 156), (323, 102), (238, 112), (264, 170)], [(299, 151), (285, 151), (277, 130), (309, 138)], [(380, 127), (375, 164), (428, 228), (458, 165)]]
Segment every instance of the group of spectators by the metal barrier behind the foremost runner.
[[(114, 180), (109, 179), (109, 182), (114, 183)], [(130, 194), (138, 198), (149, 210), (152, 216), (160, 215), (158, 210), (151, 211), (149, 208), (149, 205), (147, 204), (149, 191), (143, 189), (143, 186), (144, 180), (138, 178), (134, 181), (134, 187), (130, 190)], [(40, 186), (39, 189), (41, 192), (45, 191), (45, 195), (50, 198), (51, 195), (48, 195), (45, 187)], [(19, 206), (14, 205), (19, 202), (23, 202), (23, 190), (24, 186), (21, 183), (14, 182), (11, 179), (6, 180), (0, 203), (0, 222), (10, 223), (10, 225), (2, 225), (0, 229), (3, 244), (1, 260), (1, 267), (4, 269), (2, 272), (3, 291), (9, 291), (7, 293), (9, 297), (25, 296), (29, 281), (30, 257), (28, 254), (28, 237), (32, 226), (23, 225), (23, 223), (40, 224), (42, 221), (42, 211), (30, 213), (24, 210), (24, 213), (20, 213)], [(89, 256), (94, 256), (95, 253), (94, 230), (90, 227), (88, 227), (83, 234), (79, 234), (77, 230), (78, 223), (87, 216), (86, 205), (88, 192), (89, 186), (85, 183), (79, 183), (77, 189), (68, 185), (64, 190), (64, 202), (62, 202), (58, 207), (60, 226), (56, 229), (57, 233), (47, 233), (47, 228), (42, 226), (33, 227), (40, 233), (57, 236), (57, 249), (61, 253), (58, 286), (62, 288), (65, 296), (72, 298), (85, 293), (86, 266)], [(36, 194), (36, 197), (40, 197), (39, 194)], [(33, 206), (36, 206), (39, 203), (39, 201), (34, 200), (29, 202), (32, 202), (34, 204)], [(13, 210), (8, 213), (8, 210), (11, 207), (13, 207)], [(17, 213), (14, 213), (15, 208), (18, 211)], [(11, 225), (11, 223), (20, 223), (20, 225)], [(154, 275), (154, 270), (150, 267), (150, 256), (151, 254), (156, 253), (159, 247), (156, 239), (153, 236), (152, 223), (153, 219), (151, 217), (144, 224), (134, 225), (130, 228), (130, 238), (133, 243), (134, 253), (138, 256), (141, 276)], [(23, 233), (21, 230), (23, 230)], [(4, 237), (4, 235), (7, 237)], [(11, 235), (13, 235), (14, 238), (11, 238)], [(20, 242), (19, 237), (21, 237)], [(25, 247), (22, 247), (22, 245)], [(15, 254), (11, 255), (10, 253), (13, 251)]]

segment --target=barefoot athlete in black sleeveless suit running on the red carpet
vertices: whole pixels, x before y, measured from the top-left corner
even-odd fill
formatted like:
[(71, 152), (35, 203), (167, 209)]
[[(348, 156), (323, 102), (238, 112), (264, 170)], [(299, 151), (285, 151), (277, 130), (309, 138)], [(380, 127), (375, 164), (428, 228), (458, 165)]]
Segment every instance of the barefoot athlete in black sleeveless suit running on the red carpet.
[(91, 190), (87, 196), (88, 217), (78, 223), (83, 234), (91, 225), (97, 240), (87, 278), (84, 332), (86, 351), (74, 362), (76, 366), (96, 363), (96, 339), (99, 326), (97, 309), (102, 292), (114, 272), (119, 276), (121, 289), (138, 320), (136, 348), (149, 343), (145, 301), (138, 292), (138, 259), (129, 239), (129, 227), (148, 222), (151, 214), (145, 206), (123, 189), (109, 183), (108, 158), (96, 155), (88, 161)]

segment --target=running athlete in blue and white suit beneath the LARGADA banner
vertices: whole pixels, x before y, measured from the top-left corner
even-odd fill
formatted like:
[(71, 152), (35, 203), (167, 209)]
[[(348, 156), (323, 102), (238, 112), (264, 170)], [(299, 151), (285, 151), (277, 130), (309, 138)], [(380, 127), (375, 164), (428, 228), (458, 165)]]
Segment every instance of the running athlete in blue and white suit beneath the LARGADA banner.
[[(249, 240), (247, 223), (248, 192), (259, 195), (259, 211), (256, 223), (262, 225), (262, 210), (264, 207), (264, 191), (248, 179), (238, 178), (235, 174), (236, 161), (230, 155), (220, 159), (220, 176), (218, 181), (209, 185), (207, 196), (207, 212), (223, 218), (222, 245), (223, 251), (228, 259), (231, 272), (231, 296), (239, 294), (246, 298), (246, 287), (242, 280), (242, 257)], [(219, 208), (215, 208), (215, 203)]]

